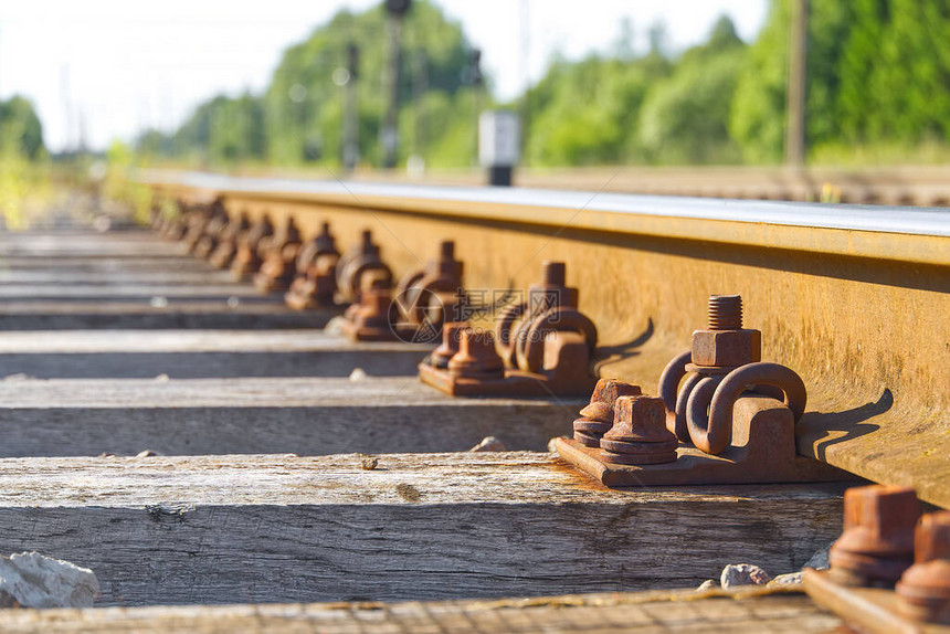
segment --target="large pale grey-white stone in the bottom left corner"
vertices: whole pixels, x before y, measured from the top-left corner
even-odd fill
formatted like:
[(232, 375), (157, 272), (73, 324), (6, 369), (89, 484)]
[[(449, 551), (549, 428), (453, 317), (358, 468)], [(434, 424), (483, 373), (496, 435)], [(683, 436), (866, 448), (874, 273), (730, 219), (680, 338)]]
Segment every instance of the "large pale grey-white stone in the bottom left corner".
[(0, 557), (0, 596), (21, 607), (92, 607), (99, 594), (95, 573), (39, 552)]

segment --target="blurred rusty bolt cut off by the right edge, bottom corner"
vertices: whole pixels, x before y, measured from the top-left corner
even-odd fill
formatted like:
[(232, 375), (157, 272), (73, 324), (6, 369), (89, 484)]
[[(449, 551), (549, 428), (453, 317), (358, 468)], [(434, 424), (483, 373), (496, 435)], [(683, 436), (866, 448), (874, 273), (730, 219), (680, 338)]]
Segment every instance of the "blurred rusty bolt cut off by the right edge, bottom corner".
[(897, 582), (900, 611), (917, 621), (950, 624), (950, 511), (920, 518), (914, 566)]

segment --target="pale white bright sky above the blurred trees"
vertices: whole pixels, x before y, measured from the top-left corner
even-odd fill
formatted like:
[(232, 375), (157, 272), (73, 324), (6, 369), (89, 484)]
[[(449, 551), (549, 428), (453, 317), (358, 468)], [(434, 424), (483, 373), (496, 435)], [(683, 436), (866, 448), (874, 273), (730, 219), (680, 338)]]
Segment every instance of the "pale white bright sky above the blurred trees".
[[(379, 0), (31, 0), (0, 3), (0, 96), (30, 97), (55, 150), (80, 130), (93, 147), (144, 126), (171, 128), (217, 93), (261, 91), (281, 52), (337, 10)], [(433, 0), (481, 46), (502, 98), (536, 81), (557, 52), (605, 51), (623, 18), (634, 41), (666, 23), (669, 46), (701, 41), (728, 14), (751, 40), (767, 0)]]

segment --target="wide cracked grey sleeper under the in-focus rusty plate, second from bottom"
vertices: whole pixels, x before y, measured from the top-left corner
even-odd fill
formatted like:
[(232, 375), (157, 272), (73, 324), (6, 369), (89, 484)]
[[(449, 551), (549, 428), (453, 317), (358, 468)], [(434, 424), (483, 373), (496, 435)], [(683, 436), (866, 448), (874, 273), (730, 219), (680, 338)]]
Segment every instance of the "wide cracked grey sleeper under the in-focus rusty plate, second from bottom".
[(614, 592), (798, 570), (841, 493), (610, 490), (516, 452), (4, 459), (0, 533), (92, 568), (104, 605)]

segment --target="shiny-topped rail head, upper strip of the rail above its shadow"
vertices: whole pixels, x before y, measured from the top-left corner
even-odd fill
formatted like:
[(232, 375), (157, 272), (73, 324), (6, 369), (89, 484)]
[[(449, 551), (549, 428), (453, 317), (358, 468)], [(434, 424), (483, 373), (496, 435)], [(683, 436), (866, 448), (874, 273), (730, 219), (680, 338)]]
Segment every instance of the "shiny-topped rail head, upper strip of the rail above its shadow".
[(146, 171), (140, 181), (272, 201), (950, 264), (950, 209), (429, 187)]

